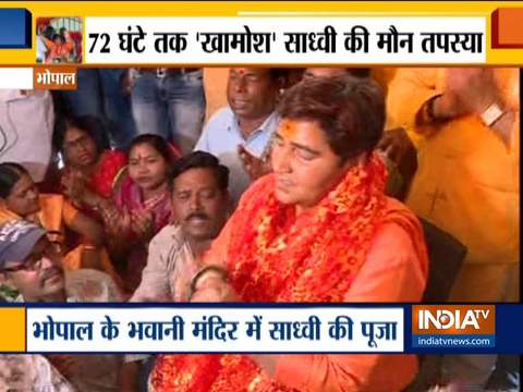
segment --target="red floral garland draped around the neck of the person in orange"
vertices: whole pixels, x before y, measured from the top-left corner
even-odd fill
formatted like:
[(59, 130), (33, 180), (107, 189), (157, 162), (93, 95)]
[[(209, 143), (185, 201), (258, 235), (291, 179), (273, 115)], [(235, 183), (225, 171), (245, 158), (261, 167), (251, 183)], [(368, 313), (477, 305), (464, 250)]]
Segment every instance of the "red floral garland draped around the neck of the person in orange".
[[(253, 184), (233, 220), (230, 283), (245, 302), (342, 302), (386, 211), (386, 168), (376, 154), (348, 170), (299, 216), (275, 195), (275, 175)], [(165, 355), (154, 391), (289, 391), (245, 355)]]

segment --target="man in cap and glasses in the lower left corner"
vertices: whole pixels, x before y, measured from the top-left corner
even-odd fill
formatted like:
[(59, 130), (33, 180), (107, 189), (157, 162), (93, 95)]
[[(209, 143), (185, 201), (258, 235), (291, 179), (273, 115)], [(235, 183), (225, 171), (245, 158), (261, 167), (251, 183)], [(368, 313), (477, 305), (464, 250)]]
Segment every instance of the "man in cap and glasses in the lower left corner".
[[(77, 270), (64, 275), (59, 267), (60, 257), (42, 228), (26, 221), (14, 221), (2, 225), (0, 228), (0, 283), (9, 289), (2, 290), (2, 299), (8, 302), (115, 302), (121, 299), (114, 283), (102, 272)], [(48, 355), (47, 358), (78, 391), (118, 391), (120, 356)], [(0, 362), (2, 367), (9, 363), (3, 359)], [(38, 369), (41, 367), (38, 366)], [(35, 369), (27, 367), (25, 371), (31, 375)], [(14, 387), (10, 385), (10, 389)], [(53, 389), (41, 390), (53, 391)]]

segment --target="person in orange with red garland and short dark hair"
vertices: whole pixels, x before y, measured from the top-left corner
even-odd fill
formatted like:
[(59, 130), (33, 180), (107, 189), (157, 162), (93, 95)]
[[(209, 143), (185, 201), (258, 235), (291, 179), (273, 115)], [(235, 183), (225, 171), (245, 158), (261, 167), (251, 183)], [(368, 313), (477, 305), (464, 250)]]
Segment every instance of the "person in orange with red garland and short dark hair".
[[(273, 173), (243, 196), (191, 301), (419, 301), (422, 229), (385, 196), (374, 151), (385, 123), (380, 88), (352, 77), (304, 81), (278, 110)], [(412, 355), (161, 355), (149, 383), (155, 392), (399, 391), (416, 369)]]

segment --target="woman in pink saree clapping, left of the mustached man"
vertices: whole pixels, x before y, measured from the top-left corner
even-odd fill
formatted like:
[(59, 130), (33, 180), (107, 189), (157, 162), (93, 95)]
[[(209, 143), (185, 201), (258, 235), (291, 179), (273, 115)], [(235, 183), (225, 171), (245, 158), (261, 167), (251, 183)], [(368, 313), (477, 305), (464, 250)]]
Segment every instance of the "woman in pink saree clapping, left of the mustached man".
[(131, 144), (127, 170), (112, 198), (83, 193), (82, 203), (104, 220), (111, 258), (127, 293), (139, 284), (150, 238), (171, 220), (167, 179), (174, 157), (160, 136), (141, 135)]

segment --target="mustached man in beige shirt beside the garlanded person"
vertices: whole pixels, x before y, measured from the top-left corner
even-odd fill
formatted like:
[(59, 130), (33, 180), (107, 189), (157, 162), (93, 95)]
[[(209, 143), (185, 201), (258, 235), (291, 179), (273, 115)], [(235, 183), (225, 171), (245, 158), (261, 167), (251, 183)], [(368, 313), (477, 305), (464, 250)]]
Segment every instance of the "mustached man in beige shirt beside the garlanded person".
[(229, 169), (204, 151), (180, 158), (169, 181), (174, 222), (150, 242), (131, 302), (186, 302), (197, 259), (226, 223)]

